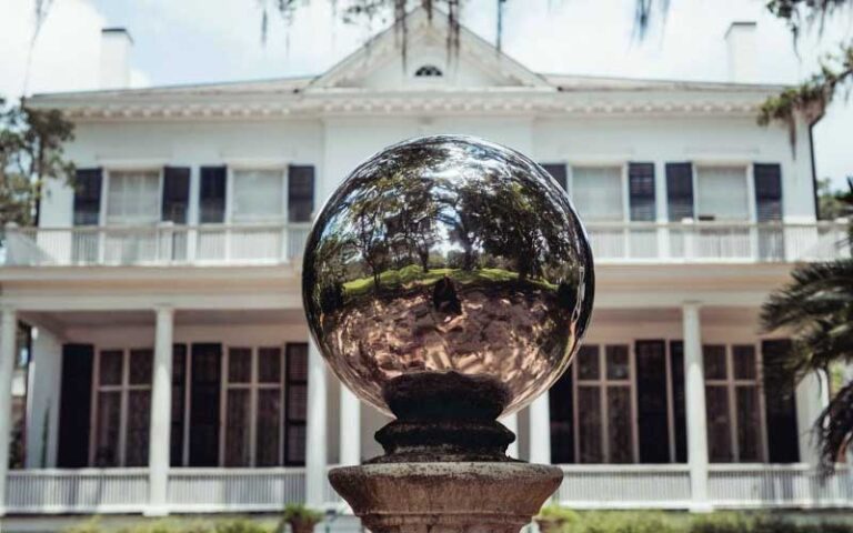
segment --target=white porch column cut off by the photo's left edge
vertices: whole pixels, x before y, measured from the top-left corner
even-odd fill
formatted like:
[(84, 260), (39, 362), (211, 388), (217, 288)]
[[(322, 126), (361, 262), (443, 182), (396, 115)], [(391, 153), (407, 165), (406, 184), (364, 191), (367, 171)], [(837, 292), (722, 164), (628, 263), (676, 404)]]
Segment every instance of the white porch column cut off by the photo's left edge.
[(0, 311), (0, 516), (6, 514), (6, 482), (9, 474), (9, 440), (12, 430), (12, 372), (18, 330), (16, 311)]

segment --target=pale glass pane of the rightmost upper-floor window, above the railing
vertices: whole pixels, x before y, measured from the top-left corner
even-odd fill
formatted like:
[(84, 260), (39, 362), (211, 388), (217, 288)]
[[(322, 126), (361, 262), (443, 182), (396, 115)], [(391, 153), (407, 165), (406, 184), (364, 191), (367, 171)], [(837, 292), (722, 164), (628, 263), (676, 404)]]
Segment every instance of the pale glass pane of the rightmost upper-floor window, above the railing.
[(696, 167), (699, 217), (749, 220), (747, 198), (745, 168)]

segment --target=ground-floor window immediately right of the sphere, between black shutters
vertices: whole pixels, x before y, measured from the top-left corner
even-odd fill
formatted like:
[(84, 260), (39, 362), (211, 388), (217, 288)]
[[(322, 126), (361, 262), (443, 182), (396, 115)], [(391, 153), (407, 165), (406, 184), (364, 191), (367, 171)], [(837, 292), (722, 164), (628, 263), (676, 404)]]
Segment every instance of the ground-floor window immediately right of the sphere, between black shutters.
[(574, 366), (578, 462), (633, 462), (633, 376), (628, 345), (581, 346)]

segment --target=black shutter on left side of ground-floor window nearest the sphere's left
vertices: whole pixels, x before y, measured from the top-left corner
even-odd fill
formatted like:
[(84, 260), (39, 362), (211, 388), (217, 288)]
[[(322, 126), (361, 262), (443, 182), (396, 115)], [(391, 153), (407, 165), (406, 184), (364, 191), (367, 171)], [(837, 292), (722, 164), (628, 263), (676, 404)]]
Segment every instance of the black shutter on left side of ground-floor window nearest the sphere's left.
[(192, 345), (190, 399), (190, 466), (219, 464), (219, 390), (222, 345)]

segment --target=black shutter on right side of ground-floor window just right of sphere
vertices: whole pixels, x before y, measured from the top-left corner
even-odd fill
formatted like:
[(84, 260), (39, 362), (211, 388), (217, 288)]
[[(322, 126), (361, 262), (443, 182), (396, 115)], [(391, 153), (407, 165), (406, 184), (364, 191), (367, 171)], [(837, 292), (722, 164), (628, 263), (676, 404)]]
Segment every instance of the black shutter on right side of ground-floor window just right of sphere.
[(636, 414), (640, 462), (669, 463), (666, 343), (636, 341)]

